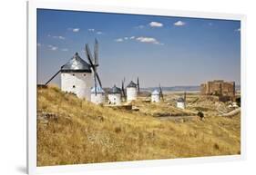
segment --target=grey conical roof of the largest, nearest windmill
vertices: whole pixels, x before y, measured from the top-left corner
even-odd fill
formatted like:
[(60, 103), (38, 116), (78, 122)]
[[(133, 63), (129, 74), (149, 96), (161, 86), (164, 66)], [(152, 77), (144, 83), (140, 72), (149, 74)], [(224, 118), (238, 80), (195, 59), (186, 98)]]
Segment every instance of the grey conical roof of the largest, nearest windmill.
[(61, 67), (62, 73), (91, 73), (91, 66), (86, 61), (84, 61), (78, 53), (75, 53), (75, 55)]

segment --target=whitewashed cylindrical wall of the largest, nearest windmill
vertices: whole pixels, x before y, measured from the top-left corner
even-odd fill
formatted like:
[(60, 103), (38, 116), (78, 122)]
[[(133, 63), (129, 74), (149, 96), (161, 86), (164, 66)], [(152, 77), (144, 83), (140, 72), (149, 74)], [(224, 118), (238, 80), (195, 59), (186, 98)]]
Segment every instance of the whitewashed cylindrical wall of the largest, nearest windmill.
[(74, 92), (78, 98), (90, 101), (91, 87), (91, 73), (61, 73), (61, 91)]

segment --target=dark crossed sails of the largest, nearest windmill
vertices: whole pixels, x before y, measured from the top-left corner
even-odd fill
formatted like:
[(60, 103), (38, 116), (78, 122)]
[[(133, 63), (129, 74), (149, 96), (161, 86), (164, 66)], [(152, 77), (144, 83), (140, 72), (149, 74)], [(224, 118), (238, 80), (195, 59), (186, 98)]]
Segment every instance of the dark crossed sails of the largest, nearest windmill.
[(90, 66), (93, 69), (95, 92), (96, 92), (96, 95), (97, 95), (97, 83), (99, 84), (100, 88), (102, 88), (101, 81), (100, 81), (99, 76), (97, 74), (97, 66), (98, 66), (98, 43), (97, 43), (97, 39), (95, 39), (94, 57), (92, 56), (92, 54), (90, 52), (88, 44), (86, 44), (86, 54), (87, 54), (88, 62), (89, 62)]

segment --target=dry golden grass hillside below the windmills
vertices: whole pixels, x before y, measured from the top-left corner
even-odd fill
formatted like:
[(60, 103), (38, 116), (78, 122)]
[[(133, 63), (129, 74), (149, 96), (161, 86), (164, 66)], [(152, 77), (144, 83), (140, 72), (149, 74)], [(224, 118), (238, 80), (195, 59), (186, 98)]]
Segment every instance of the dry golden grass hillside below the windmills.
[(54, 86), (38, 88), (37, 166), (240, 154), (240, 114), (162, 121), (154, 114), (180, 110), (167, 102), (134, 105), (138, 112), (82, 101)]

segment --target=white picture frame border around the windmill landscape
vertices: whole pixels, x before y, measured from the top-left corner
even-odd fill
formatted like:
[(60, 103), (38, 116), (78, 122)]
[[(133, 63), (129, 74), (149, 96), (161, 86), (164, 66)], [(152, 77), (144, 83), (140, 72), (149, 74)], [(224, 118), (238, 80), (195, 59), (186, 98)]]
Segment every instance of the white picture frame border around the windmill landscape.
[[(127, 162), (94, 163), (83, 165), (65, 165), (52, 167), (36, 167), (36, 9), (57, 9), (87, 12), (106, 12), (135, 15), (166, 15), (180, 17), (226, 19), (241, 21), (241, 155), (215, 156), (204, 158), (186, 158), (173, 160), (138, 160)], [(204, 162), (220, 162), (228, 160), (244, 160), (246, 158), (246, 74), (245, 74), (245, 32), (246, 16), (235, 14), (219, 14), (206, 12), (174, 11), (168, 9), (147, 9), (122, 7), (114, 5), (89, 5), (81, 2), (54, 3), (46, 1), (27, 2), (27, 172), (29, 174), (77, 171), (108, 170), (134, 167), (169, 166), (174, 164), (191, 164)]]

